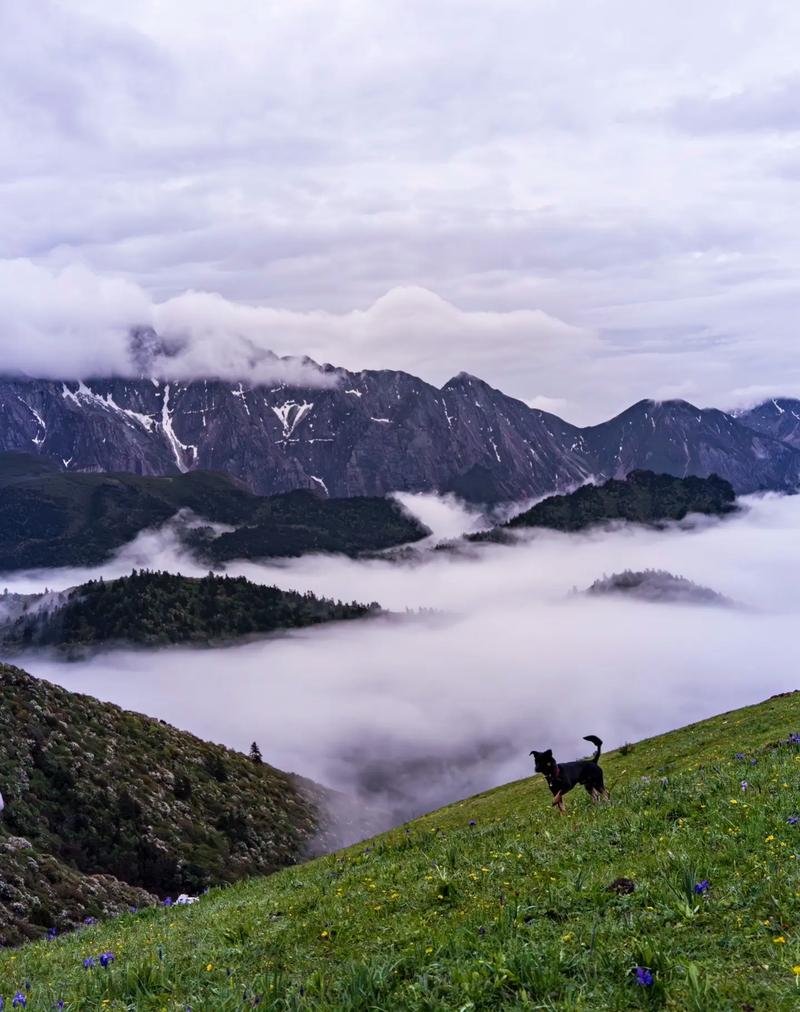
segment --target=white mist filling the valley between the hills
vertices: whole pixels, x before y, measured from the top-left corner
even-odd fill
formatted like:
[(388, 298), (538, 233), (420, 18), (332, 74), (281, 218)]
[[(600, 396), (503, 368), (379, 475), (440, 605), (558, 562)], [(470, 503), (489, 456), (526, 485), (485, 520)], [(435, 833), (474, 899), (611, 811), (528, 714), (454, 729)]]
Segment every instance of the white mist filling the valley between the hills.
[[(434, 530), (431, 540), (481, 522), (452, 500), (403, 501)], [(528, 775), (532, 748), (572, 759), (585, 754), (587, 734), (608, 749), (797, 687), (800, 497), (742, 502), (738, 515), (688, 529), (538, 531), (514, 546), (428, 552), (412, 563), (241, 562), (228, 572), (377, 600), (395, 614), (226, 649), (113, 651), (75, 663), (31, 655), (17, 663), (232, 748), (255, 740), (273, 765), (356, 794), (399, 822)], [(61, 589), (134, 565), (205, 572), (168, 525), (99, 569), (5, 582), (16, 591)], [(604, 574), (648, 568), (743, 607), (570, 593)], [(415, 614), (420, 608), (433, 612)]]

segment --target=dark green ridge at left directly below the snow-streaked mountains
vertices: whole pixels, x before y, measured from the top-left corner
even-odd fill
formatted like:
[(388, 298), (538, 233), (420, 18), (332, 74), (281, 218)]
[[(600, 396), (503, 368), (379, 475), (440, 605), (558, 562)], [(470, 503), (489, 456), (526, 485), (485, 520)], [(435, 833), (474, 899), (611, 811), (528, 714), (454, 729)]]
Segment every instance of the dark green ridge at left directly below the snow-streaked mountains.
[(212, 472), (144, 478), (82, 474), (27, 453), (0, 453), (0, 572), (39, 566), (94, 566), (148, 527), (181, 510), (237, 528), (183, 530), (212, 563), (297, 556), (357, 555), (425, 537), (429, 531), (389, 499), (322, 499), (314, 492), (257, 496)]

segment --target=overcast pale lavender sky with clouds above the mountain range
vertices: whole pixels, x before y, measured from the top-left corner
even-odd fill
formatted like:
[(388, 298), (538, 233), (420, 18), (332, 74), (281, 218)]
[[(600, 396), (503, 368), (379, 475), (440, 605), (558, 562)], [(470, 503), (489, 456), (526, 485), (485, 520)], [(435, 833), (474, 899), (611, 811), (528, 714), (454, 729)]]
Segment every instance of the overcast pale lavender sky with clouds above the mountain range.
[(2, 361), (148, 322), (577, 422), (800, 395), (799, 43), (795, 0), (0, 0)]

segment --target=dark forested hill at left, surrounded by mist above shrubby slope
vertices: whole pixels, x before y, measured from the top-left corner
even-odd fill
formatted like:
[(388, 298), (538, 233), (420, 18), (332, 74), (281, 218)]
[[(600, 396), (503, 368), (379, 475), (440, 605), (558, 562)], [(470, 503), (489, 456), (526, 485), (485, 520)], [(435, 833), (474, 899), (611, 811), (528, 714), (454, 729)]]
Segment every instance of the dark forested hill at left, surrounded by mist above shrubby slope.
[(23, 612), (0, 627), (0, 646), (57, 646), (74, 652), (111, 643), (205, 645), (377, 611), (377, 604), (343, 604), (263, 587), (244, 577), (209, 573), (198, 579), (134, 570), (119, 580), (82, 584), (53, 610)]

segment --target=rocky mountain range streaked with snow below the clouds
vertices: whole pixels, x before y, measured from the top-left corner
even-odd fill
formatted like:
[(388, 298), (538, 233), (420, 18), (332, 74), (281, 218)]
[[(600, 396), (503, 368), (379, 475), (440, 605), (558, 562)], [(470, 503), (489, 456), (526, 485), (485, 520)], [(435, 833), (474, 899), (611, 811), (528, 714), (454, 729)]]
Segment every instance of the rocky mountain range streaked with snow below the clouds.
[(746, 419), (642, 401), (577, 428), (461, 373), (440, 390), (406, 372), (325, 367), (332, 386), (216, 380), (0, 380), (0, 449), (70, 471), (225, 472), (261, 494), (452, 491), (498, 503), (636, 468), (716, 473), (737, 492), (795, 489), (800, 448)]

